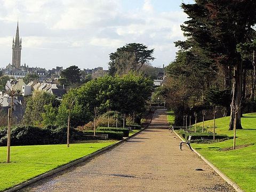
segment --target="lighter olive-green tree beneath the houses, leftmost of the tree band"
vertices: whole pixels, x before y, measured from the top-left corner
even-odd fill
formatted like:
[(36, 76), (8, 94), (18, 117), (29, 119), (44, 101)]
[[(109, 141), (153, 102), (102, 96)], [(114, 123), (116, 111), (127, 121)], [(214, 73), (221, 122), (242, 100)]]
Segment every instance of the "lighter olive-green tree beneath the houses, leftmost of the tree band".
[[(34, 92), (33, 95), (27, 97), (25, 114), (22, 119), (23, 124), (36, 126), (42, 125), (43, 115), (45, 117), (47, 116), (45, 114), (45, 109), (50, 110), (49, 106), (44, 108), (45, 105), (58, 107), (59, 101), (57, 100), (55, 95), (41, 91)], [(47, 118), (48, 117), (49, 115), (47, 116)]]

